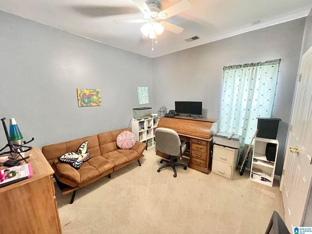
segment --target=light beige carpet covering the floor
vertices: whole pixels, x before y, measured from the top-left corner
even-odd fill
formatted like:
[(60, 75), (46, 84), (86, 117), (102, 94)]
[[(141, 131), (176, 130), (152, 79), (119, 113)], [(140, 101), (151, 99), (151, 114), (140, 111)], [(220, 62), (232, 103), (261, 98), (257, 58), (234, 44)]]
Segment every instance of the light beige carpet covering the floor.
[[(264, 234), (273, 211), (284, 218), (279, 185), (267, 187), (238, 172), (234, 180), (171, 167), (157, 173), (154, 148), (77, 191), (73, 204), (57, 184), (63, 234)], [(187, 164), (187, 159), (182, 163)]]

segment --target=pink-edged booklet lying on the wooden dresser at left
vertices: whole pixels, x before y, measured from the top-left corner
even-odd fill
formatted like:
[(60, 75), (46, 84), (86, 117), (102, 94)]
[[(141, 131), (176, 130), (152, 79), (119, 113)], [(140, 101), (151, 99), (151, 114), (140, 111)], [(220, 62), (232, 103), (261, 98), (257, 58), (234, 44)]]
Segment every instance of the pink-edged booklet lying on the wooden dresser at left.
[(25, 163), (19, 166), (3, 169), (0, 171), (0, 188), (27, 178), (31, 178), (32, 176), (33, 171), (31, 163)]

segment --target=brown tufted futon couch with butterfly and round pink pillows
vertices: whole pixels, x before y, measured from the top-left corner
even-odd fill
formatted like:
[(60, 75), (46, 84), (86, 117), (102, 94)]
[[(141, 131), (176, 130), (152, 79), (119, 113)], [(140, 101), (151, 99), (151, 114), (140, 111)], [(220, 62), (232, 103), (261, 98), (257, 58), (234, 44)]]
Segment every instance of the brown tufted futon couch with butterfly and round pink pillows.
[[(57, 181), (60, 182), (63, 195), (74, 192), (70, 203), (74, 202), (79, 188), (106, 175), (110, 178), (113, 171), (134, 161), (141, 166), (139, 158), (144, 156), (142, 153), (146, 147), (145, 143), (137, 141), (129, 150), (122, 150), (117, 146), (117, 136), (126, 130), (131, 132), (131, 128), (124, 128), (42, 147), (43, 155), (54, 169)], [(59, 162), (59, 156), (76, 152), (86, 140), (89, 141), (90, 159), (83, 162), (78, 170), (67, 163)]]

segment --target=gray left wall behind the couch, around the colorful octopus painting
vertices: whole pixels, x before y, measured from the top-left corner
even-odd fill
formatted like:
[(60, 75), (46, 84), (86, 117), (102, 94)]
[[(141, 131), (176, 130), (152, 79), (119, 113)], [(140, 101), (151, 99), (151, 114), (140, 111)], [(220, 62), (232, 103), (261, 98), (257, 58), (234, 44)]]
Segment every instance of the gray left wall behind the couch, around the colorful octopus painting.
[[(152, 59), (1, 11), (0, 74), (0, 118), (9, 128), (14, 117), (31, 146), (128, 127), (133, 108), (153, 105)], [(100, 89), (101, 106), (78, 107), (77, 88)]]

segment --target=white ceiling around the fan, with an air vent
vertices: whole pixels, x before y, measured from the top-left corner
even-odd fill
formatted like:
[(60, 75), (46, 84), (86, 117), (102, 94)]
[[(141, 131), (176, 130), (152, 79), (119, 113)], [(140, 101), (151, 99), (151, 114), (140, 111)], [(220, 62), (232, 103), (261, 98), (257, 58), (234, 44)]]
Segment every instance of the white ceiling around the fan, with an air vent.
[[(179, 0), (159, 0), (166, 9)], [(152, 39), (142, 38), (144, 23), (113, 20), (143, 19), (132, 0), (0, 0), (0, 10), (94, 39), (150, 58), (306, 17), (312, 0), (190, 0), (191, 8), (166, 21), (184, 28), (165, 30), (152, 51)], [(252, 25), (253, 21), (261, 20)], [(1, 23), (1, 22), (0, 22)], [(198, 36), (200, 39), (186, 42)]]

